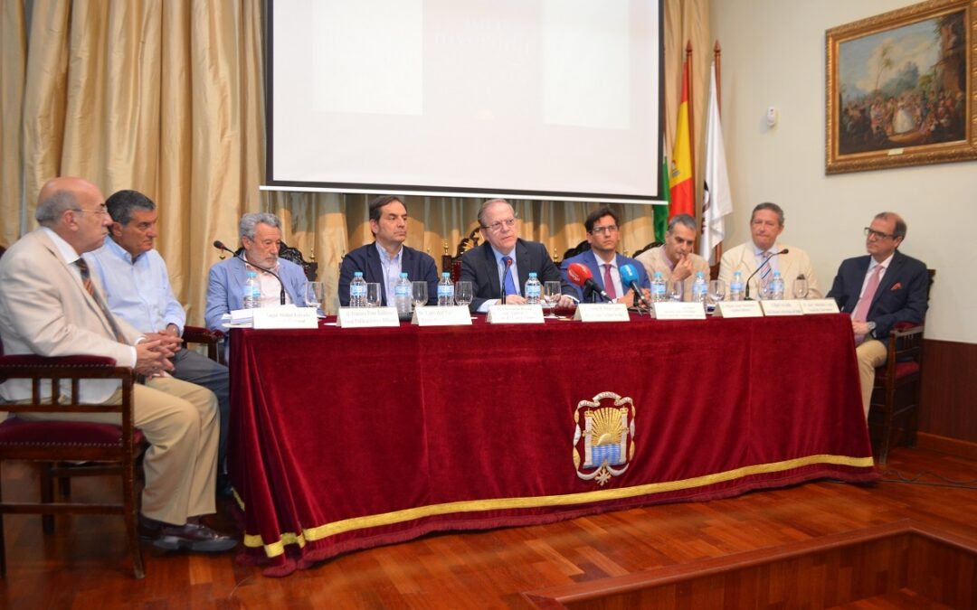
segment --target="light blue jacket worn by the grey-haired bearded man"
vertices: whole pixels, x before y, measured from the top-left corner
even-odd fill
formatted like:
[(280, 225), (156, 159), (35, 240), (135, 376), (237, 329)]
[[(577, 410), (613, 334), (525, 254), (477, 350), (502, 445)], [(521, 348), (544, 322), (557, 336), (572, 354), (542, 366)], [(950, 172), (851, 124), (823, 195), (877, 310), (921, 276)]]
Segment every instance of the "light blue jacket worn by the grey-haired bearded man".
[[(288, 298), (296, 306), (305, 306), (305, 285), (308, 281), (305, 271), (298, 264), (284, 259), (278, 259), (278, 277), (284, 285)], [(239, 257), (232, 257), (227, 261), (210, 267), (207, 279), (207, 307), (204, 319), (207, 328), (223, 331), (221, 317), (231, 313), (232, 309), (240, 309), (244, 305), (244, 282), (247, 281), (247, 268)]]

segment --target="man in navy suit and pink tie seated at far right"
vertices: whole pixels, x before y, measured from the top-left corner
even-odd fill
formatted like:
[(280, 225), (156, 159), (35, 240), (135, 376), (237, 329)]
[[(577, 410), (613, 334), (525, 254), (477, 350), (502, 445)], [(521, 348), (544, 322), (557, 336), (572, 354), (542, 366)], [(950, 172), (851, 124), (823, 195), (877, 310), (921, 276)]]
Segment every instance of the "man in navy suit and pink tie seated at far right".
[(906, 222), (892, 212), (875, 216), (865, 229), (869, 256), (841, 263), (828, 297), (852, 314), (855, 353), (862, 378), (862, 407), (869, 417), (875, 367), (885, 363), (885, 341), (899, 322), (919, 324), (929, 306), (926, 265), (899, 252), (906, 238)]

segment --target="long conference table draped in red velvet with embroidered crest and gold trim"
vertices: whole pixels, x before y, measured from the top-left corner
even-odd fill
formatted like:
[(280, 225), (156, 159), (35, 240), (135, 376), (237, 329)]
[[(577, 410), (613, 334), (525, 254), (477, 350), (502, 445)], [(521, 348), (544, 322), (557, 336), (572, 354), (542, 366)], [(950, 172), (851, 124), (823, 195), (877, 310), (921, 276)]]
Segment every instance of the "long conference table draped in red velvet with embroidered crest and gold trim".
[(232, 331), (245, 561), (877, 478), (845, 314)]

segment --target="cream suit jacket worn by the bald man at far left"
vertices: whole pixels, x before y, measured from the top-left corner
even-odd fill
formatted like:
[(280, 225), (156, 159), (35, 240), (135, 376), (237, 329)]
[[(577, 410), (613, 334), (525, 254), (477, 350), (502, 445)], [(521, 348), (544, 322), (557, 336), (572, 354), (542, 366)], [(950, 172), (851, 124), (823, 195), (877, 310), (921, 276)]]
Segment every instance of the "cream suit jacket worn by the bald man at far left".
[[(96, 290), (105, 293), (93, 274)], [(134, 364), (132, 345), (142, 335), (115, 317), (128, 345), (115, 340), (102, 307), (88, 294), (80, 275), (64, 262), (43, 228), (27, 233), (0, 259), (0, 335), (4, 353), (40, 356), (96, 355)], [(64, 385), (63, 385), (64, 386)], [(117, 381), (84, 381), (79, 399), (100, 403), (118, 388)], [(42, 388), (48, 392), (47, 386)], [(6, 400), (29, 398), (30, 380), (0, 384)], [(0, 413), (0, 419), (6, 414)]]

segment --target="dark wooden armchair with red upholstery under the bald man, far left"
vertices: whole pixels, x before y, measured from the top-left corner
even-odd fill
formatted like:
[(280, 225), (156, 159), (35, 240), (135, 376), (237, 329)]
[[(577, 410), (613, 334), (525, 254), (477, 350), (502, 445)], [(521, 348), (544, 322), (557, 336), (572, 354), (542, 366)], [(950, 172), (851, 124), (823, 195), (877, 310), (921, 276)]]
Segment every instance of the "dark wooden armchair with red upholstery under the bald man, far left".
[[(40, 502), (5, 502), (0, 490), (0, 576), (6, 574), (7, 560), (3, 539), (5, 513), (42, 513), (45, 534), (54, 531), (54, 515), (63, 513), (121, 514), (125, 520), (126, 544), (132, 557), (133, 574), (145, 576), (139, 548), (137, 461), (142, 458), (143, 433), (133, 426), (133, 371), (115, 366), (111, 358), (67, 356), (44, 358), (33, 355), (3, 355), (0, 350), (0, 381), (29, 379), (32, 398), (29, 404), (0, 404), (0, 409), (21, 413), (118, 413), (121, 426), (82, 422), (27, 421), (11, 418), (0, 424), (0, 465), (4, 460), (22, 460), (40, 465)], [(92, 405), (78, 402), (81, 380), (118, 380), (122, 401), (117, 405)], [(42, 382), (50, 382), (50, 394), (42, 394)], [(61, 387), (69, 389), (68, 400), (61, 398)], [(67, 467), (70, 462), (91, 463)], [(63, 498), (55, 501), (54, 479), (68, 476), (111, 473), (121, 477), (122, 500), (116, 504), (84, 504)], [(2, 475), (0, 475), (2, 484)], [(64, 486), (63, 490), (66, 490)], [(64, 495), (64, 494), (63, 494)]]

